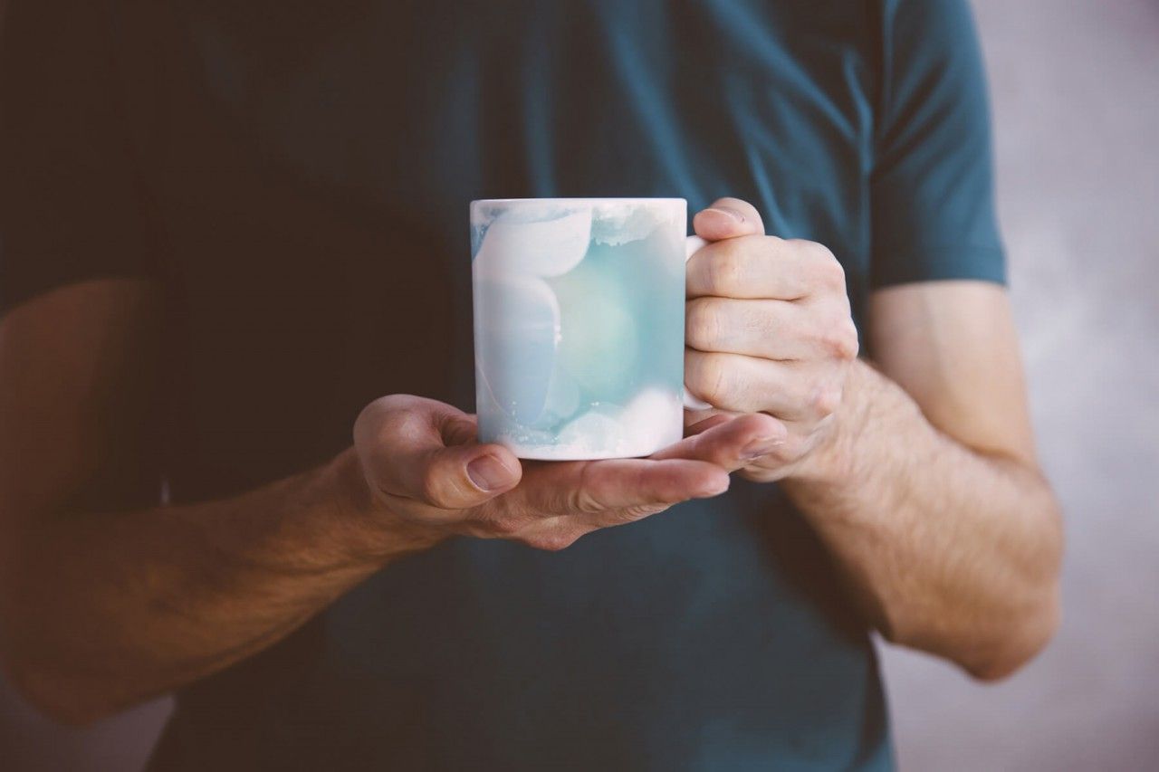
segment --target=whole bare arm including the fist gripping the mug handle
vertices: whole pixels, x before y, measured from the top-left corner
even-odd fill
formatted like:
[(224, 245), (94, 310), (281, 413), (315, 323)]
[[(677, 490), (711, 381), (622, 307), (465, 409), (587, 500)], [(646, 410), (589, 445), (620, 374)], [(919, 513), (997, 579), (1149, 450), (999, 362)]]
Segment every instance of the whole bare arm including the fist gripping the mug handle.
[(778, 447), (742, 474), (781, 481), (888, 640), (982, 679), (1016, 670), (1057, 627), (1063, 537), (1005, 290), (874, 293), (875, 367), (854, 359), (844, 275), (824, 247), (764, 236), (737, 199), (695, 226), (715, 243), (688, 263), (688, 385), (781, 424)]

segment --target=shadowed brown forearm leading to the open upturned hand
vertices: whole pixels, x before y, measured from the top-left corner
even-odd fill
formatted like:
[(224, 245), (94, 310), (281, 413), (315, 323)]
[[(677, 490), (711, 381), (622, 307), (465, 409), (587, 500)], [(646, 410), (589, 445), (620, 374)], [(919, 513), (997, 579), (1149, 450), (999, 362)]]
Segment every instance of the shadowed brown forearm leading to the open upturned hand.
[(13, 677), (49, 712), (85, 720), (265, 648), (432, 544), (386, 523), (359, 487), (348, 452), (229, 500), (30, 519), (0, 578)]

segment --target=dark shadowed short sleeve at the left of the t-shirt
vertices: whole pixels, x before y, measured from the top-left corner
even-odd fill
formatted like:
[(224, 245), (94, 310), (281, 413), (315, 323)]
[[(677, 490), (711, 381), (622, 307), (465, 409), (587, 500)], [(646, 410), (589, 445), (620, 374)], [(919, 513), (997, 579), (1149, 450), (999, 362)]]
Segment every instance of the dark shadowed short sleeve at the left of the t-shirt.
[(0, 313), (153, 272), (108, 0), (13, 0), (0, 19)]

